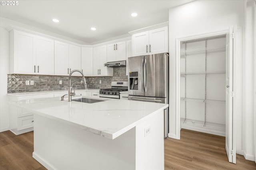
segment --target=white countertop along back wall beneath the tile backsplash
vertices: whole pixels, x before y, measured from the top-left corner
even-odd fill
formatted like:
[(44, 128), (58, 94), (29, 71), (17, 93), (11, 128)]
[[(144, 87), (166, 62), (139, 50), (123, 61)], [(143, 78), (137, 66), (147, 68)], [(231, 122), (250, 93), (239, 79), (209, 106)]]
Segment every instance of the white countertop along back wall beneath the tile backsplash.
[[(82, 91), (87, 91), (87, 92), (99, 92), (100, 89), (78, 89), (76, 92), (82, 92)], [(55, 91), (44, 91), (44, 92), (23, 92), (23, 93), (8, 93), (7, 95), (9, 96), (30, 96), (30, 95), (38, 95), (38, 94), (57, 94), (57, 93), (62, 93), (66, 92), (68, 93), (68, 90), (55, 90)]]

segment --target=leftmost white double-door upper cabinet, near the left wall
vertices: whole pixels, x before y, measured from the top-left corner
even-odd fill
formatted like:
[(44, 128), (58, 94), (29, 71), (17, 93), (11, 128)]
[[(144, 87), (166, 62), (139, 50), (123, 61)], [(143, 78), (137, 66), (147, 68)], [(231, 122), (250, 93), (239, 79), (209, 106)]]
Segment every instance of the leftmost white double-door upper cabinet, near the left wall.
[(54, 41), (10, 31), (10, 74), (54, 75)]

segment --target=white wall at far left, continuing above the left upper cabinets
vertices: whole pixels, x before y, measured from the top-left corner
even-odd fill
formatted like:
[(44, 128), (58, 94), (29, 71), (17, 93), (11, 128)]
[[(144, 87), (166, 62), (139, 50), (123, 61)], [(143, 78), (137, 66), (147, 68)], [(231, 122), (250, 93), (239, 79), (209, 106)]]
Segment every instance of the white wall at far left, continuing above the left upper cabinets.
[(60, 39), (65, 39), (67, 41), (72, 41), (74, 43), (84, 44), (81, 41), (58, 35), (43, 29), (32, 27), (24, 23), (9, 20), (0, 17), (0, 132), (9, 130), (9, 106), (6, 103), (8, 100), (7, 96), (7, 74), (9, 74), (9, 32), (6, 27), (9, 25), (14, 25), (36, 31), (39, 33), (44, 33), (46, 35), (51, 35)]

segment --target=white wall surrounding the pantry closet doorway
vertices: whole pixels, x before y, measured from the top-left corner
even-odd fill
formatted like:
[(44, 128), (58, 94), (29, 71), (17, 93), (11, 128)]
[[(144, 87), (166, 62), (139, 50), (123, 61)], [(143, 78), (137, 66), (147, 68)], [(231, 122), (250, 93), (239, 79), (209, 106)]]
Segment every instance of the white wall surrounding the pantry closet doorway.
[[(170, 107), (169, 107), (169, 137), (176, 137), (176, 38), (188, 35), (195, 35), (199, 33), (207, 33), (213, 31), (220, 31), (228, 29), (230, 25), (238, 25), (242, 27), (242, 43), (243, 43), (243, 86), (252, 86), (251, 83), (253, 74), (246, 75), (248, 72), (253, 72), (252, 67), (247, 68), (248, 63), (254, 63), (253, 57), (246, 57), (244, 54), (245, 49), (245, 6), (246, 1), (237, 0), (197, 0), (171, 8), (169, 10), (169, 56), (170, 56)], [(245, 62), (245, 63), (244, 63)], [(250, 79), (250, 80), (249, 80)], [(251, 83), (251, 84), (249, 84)], [(246, 86), (246, 87), (247, 87)], [(251, 89), (251, 87), (250, 87)], [(244, 150), (245, 154), (251, 155), (254, 152), (254, 126), (251, 121), (254, 119), (252, 106), (248, 107), (247, 96), (252, 97), (250, 89), (243, 88), (243, 105), (242, 105), (242, 119), (249, 121), (246, 124), (238, 123), (238, 144), (237, 149), (240, 153)], [(246, 96), (244, 96), (246, 94)], [(246, 105), (246, 106), (245, 106)], [(248, 108), (247, 108), (248, 107)], [(248, 111), (248, 112), (247, 112)], [(241, 113), (240, 113), (241, 114)], [(251, 120), (251, 121), (250, 121)], [(240, 120), (241, 121), (241, 120)], [(244, 129), (246, 128), (246, 129)], [(241, 135), (243, 134), (243, 138)], [(242, 140), (243, 139), (243, 140)], [(240, 140), (240, 142), (239, 142)], [(242, 140), (242, 141), (241, 141)], [(245, 156), (246, 157), (246, 156)]]

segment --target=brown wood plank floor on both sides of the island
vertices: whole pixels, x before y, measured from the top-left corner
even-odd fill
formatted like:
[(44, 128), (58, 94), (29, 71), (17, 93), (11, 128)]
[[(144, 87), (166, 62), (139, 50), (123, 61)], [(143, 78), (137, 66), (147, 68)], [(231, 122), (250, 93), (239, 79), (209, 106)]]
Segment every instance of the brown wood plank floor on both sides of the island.
[[(225, 137), (182, 129), (180, 140), (164, 140), (165, 170), (256, 170), (253, 161), (237, 154), (228, 162)], [(0, 133), (0, 170), (46, 170), (32, 158), (34, 133)]]

